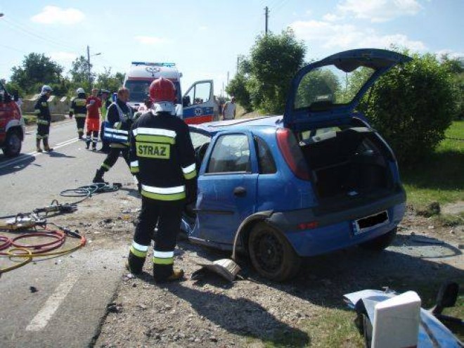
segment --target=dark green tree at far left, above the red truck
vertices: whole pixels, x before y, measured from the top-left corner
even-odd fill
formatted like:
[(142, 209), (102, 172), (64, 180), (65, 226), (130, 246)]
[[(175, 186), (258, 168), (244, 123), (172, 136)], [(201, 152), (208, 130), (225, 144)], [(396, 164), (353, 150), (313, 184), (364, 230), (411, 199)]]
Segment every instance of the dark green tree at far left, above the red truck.
[(44, 53), (29, 53), (22, 64), (13, 67), (11, 71), (11, 83), (16, 84), (25, 94), (39, 93), (44, 84), (52, 88), (60, 86), (63, 81), (63, 67)]

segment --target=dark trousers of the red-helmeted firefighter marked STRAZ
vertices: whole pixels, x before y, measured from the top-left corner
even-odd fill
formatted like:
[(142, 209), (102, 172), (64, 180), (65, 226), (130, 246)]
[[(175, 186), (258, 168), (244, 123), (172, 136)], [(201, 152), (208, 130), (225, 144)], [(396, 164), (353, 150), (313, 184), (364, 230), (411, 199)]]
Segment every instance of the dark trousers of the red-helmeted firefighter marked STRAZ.
[(174, 202), (164, 203), (142, 196), (142, 209), (134, 233), (134, 242), (148, 246), (155, 233), (153, 250), (153, 275), (155, 278), (167, 278), (172, 275), (174, 248), (181, 229), (183, 205)]

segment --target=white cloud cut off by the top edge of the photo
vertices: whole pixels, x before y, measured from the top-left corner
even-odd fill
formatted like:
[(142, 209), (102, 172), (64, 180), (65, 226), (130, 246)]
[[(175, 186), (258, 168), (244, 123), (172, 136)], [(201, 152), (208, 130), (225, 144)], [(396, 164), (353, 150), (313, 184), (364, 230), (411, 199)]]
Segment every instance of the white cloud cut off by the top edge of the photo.
[(371, 22), (386, 22), (403, 15), (415, 15), (423, 7), (418, 0), (344, 0), (337, 5), (341, 13)]

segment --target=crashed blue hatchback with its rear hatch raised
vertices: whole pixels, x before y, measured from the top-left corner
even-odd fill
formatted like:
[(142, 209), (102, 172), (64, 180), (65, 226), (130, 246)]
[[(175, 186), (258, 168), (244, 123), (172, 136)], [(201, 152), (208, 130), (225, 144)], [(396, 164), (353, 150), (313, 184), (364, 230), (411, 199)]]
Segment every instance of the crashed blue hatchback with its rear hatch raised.
[(404, 217), (397, 161), (356, 112), (407, 56), (344, 51), (303, 67), (282, 116), (191, 125), (198, 198), (183, 215), (193, 243), (247, 252), (262, 276), (295, 276), (302, 257), (383, 250)]

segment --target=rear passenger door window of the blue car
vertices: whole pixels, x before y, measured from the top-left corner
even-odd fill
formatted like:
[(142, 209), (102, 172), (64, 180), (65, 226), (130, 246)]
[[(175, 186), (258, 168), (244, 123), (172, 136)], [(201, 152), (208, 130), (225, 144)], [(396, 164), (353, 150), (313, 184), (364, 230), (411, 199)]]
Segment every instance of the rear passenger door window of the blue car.
[(206, 172), (210, 174), (251, 172), (248, 137), (245, 134), (219, 136)]

